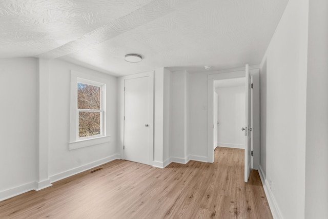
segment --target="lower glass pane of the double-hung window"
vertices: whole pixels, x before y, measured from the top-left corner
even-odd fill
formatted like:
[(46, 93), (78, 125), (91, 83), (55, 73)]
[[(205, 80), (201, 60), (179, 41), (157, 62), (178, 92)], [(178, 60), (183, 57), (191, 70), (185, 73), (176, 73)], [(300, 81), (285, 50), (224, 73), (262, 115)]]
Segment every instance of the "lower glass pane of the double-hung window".
[(100, 112), (78, 112), (78, 137), (100, 134)]

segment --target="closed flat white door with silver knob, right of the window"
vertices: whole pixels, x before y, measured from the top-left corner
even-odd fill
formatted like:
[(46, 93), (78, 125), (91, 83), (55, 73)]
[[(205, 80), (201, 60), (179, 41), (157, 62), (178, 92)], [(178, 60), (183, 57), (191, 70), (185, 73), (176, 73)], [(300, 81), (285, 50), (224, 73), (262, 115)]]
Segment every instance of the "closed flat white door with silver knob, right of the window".
[(150, 77), (125, 79), (124, 159), (150, 164)]

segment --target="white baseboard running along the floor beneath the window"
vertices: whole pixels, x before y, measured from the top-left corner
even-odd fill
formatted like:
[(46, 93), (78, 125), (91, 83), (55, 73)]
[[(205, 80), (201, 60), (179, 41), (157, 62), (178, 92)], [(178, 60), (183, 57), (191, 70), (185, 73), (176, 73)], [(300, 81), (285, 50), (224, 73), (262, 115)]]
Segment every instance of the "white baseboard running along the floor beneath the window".
[(103, 159), (100, 159), (98, 161), (94, 161), (89, 164), (85, 164), (85, 165), (82, 165), (82, 166), (61, 172), (61, 173), (54, 174), (54, 175), (50, 176), (49, 178), (50, 178), (51, 183), (54, 183), (56, 181), (63, 180), (63, 178), (67, 178), (69, 176), (89, 170), (89, 169), (97, 167), (99, 165), (106, 164), (106, 163), (111, 162), (116, 159), (119, 159), (119, 154), (114, 154), (114, 155), (105, 157)]

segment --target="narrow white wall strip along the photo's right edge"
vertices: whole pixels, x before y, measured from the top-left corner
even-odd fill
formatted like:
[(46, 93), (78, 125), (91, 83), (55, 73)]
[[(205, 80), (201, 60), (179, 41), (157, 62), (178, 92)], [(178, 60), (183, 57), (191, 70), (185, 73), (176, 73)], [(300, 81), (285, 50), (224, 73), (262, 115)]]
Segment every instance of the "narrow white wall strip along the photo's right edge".
[(328, 1), (309, 1), (305, 217), (328, 218)]

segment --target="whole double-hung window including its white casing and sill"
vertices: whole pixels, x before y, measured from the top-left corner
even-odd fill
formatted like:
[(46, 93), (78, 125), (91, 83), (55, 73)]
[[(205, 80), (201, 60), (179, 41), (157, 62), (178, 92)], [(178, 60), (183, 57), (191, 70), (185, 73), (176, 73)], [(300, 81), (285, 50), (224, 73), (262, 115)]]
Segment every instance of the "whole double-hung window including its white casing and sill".
[(71, 71), (70, 150), (110, 142), (106, 133), (107, 84), (105, 78)]

